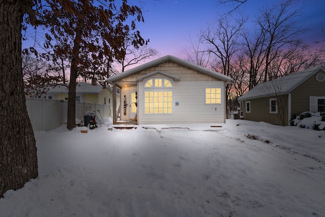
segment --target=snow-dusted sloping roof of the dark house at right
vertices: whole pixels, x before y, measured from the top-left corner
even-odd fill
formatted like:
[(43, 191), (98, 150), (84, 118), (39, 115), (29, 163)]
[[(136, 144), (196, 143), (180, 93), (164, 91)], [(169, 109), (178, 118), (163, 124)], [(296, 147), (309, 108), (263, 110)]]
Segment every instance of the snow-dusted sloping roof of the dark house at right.
[(246, 92), (246, 94), (239, 97), (238, 100), (262, 98), (275, 94), (289, 94), (291, 91), (293, 91), (296, 87), (305, 82), (308, 78), (310, 78), (319, 70), (322, 70), (325, 73), (324, 67), (315, 66), (313, 68), (286, 75), (272, 81), (259, 83), (254, 88)]

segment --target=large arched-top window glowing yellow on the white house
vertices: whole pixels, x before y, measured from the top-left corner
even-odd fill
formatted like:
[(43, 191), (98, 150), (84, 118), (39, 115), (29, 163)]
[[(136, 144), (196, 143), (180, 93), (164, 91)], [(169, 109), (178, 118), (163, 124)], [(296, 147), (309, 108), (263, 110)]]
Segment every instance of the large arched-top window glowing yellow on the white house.
[(144, 84), (144, 87), (145, 114), (171, 114), (173, 112), (173, 91), (168, 89), (173, 87), (170, 80), (152, 78)]

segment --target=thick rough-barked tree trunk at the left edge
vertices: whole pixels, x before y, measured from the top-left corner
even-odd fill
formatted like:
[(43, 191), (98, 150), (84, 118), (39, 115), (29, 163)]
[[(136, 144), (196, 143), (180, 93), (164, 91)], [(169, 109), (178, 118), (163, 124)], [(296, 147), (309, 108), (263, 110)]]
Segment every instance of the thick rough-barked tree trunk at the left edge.
[(22, 1), (0, 3), (0, 198), (38, 176), (22, 79)]

